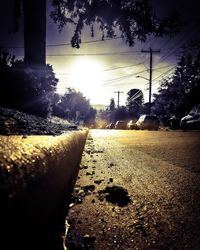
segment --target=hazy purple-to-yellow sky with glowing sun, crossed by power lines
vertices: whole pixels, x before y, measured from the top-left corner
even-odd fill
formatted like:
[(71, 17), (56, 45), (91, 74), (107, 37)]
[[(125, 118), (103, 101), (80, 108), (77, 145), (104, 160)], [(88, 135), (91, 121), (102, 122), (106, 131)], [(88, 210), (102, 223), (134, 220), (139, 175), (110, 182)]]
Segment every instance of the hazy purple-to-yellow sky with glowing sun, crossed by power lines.
[[(10, 11), (9, 1), (0, 3), (2, 16)], [(125, 105), (127, 92), (139, 88), (143, 91), (145, 102), (148, 102), (149, 53), (142, 53), (141, 50), (152, 48), (160, 51), (153, 53), (153, 94), (158, 90), (159, 81), (173, 74), (182, 46), (200, 32), (198, 0), (152, 0), (152, 4), (160, 17), (177, 9), (187, 25), (174, 38), (149, 37), (146, 43), (136, 42), (134, 47), (129, 47), (121, 38), (102, 41), (98, 29), (91, 38), (86, 28), (81, 48), (72, 48), (73, 27), (68, 26), (58, 32), (56, 24), (47, 15), (46, 62), (53, 66), (59, 79), (58, 93), (63, 94), (68, 87), (72, 87), (81, 91), (91, 104), (109, 105), (111, 98), (117, 103), (117, 91), (120, 91), (119, 104)], [(20, 32), (13, 33), (12, 19), (9, 18), (7, 25), (0, 28), (0, 45), (8, 47), (19, 58), (23, 57), (22, 27)]]

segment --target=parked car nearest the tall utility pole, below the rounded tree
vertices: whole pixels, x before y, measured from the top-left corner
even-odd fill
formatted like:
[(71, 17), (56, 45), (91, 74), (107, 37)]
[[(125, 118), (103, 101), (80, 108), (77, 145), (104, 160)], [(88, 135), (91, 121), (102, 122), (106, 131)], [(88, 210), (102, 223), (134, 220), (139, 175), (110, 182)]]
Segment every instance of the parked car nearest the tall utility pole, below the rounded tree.
[(156, 115), (142, 115), (137, 120), (138, 129), (158, 130), (160, 121)]

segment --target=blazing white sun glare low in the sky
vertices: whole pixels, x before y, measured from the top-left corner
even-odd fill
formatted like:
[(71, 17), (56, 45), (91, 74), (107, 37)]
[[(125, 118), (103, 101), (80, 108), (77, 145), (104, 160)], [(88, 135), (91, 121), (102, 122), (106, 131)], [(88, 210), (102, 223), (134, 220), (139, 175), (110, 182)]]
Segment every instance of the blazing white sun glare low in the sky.
[(63, 95), (66, 93), (67, 88), (74, 88), (89, 99), (91, 104), (104, 102), (106, 95), (103, 82), (106, 76), (104, 64), (101, 61), (84, 56), (75, 59), (68, 66), (63, 63), (61, 68), (63, 72), (67, 73), (58, 74), (57, 93)]

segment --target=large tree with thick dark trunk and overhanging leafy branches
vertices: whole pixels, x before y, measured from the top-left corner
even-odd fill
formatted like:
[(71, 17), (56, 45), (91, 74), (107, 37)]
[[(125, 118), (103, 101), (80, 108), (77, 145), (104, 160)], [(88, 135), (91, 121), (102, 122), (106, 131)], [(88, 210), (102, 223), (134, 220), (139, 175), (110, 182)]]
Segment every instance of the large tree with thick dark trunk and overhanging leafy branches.
[[(21, 3), (24, 11), (25, 61), (33, 64), (45, 63), (46, 0), (15, 0), (15, 22), (18, 27)], [(53, 11), (50, 16), (59, 30), (65, 25), (75, 26), (71, 39), (72, 47), (79, 48), (81, 32), (85, 25), (98, 24), (105, 36), (113, 38), (120, 32), (122, 38), (133, 46), (136, 39), (146, 41), (147, 35), (174, 35), (178, 31), (177, 14), (162, 20), (148, 0), (51, 0)]]

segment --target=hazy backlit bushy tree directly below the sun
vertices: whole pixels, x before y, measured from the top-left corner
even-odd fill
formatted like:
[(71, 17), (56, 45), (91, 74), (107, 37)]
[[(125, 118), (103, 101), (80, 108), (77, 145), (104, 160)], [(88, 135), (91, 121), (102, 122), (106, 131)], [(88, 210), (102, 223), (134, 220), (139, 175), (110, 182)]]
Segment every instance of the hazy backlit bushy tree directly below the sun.
[(89, 100), (81, 92), (68, 88), (64, 95), (55, 94), (52, 114), (76, 122), (83, 120), (85, 124), (91, 124), (94, 122), (96, 110), (91, 107)]

